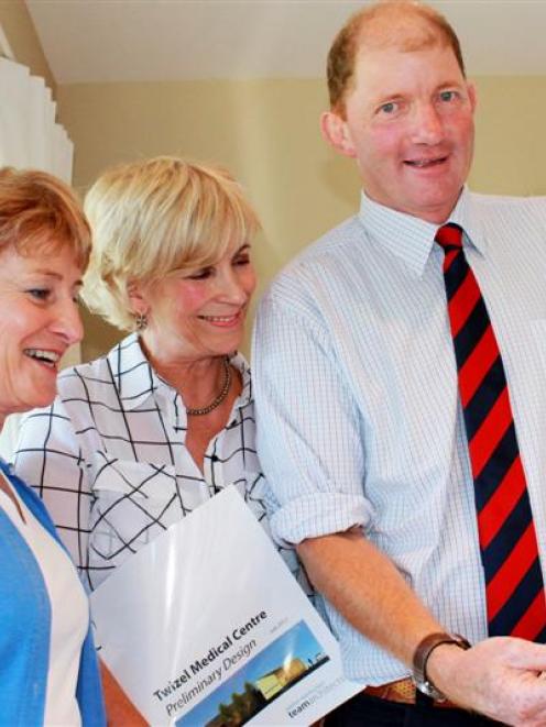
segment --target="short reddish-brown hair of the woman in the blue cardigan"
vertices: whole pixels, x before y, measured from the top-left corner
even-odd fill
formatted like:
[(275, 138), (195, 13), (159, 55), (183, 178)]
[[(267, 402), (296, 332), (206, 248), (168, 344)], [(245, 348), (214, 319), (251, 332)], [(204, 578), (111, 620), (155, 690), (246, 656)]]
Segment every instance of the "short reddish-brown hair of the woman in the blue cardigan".
[(45, 172), (0, 168), (0, 253), (9, 246), (21, 255), (67, 246), (84, 271), (91, 233), (74, 191)]

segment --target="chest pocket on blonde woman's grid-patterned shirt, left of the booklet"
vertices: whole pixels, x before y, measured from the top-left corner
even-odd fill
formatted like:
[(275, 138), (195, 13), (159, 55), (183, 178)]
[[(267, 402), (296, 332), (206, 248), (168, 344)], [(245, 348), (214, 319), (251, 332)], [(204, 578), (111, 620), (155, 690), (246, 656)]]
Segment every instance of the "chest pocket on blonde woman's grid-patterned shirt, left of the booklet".
[(114, 460), (92, 483), (89, 565), (111, 569), (182, 517), (172, 465)]

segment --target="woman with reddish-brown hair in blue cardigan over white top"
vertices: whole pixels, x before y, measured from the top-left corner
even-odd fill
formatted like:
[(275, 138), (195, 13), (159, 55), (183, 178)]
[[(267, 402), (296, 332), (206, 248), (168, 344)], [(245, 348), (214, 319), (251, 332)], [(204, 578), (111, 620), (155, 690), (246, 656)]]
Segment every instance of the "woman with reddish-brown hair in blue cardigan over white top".
[[(0, 426), (55, 397), (58, 362), (83, 335), (89, 250), (66, 185), (0, 169)], [(0, 619), (0, 724), (106, 725), (84, 588), (43, 503), (3, 460)]]

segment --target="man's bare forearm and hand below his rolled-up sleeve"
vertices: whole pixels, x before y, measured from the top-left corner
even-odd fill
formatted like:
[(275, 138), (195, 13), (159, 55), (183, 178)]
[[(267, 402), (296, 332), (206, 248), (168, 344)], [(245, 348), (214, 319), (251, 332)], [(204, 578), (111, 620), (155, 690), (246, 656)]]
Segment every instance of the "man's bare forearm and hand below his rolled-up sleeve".
[[(448, 630), (360, 532), (305, 540), (297, 550), (312, 582), (347, 620), (408, 668), (424, 637)], [(446, 643), (433, 650), (426, 671), (462, 707), (517, 727), (546, 727), (546, 646), (507, 637), (468, 651)]]

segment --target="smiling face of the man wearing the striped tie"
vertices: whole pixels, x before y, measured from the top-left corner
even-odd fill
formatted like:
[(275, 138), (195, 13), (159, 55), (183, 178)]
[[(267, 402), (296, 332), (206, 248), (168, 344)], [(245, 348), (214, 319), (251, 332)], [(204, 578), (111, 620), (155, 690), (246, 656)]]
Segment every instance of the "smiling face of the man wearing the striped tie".
[(371, 199), (435, 223), (457, 202), (472, 162), (474, 89), (454, 52), (436, 45), (415, 52), (365, 49), (357, 57), (346, 118), (337, 139), (357, 159)]

